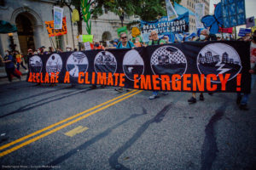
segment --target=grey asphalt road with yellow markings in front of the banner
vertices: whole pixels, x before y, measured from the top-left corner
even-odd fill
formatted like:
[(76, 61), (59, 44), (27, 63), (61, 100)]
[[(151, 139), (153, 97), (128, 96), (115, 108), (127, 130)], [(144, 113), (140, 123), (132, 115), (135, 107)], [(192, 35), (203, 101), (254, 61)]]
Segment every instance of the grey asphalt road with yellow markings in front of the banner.
[(256, 87), (250, 111), (236, 94), (150, 94), (2, 82), (0, 169), (255, 169)]

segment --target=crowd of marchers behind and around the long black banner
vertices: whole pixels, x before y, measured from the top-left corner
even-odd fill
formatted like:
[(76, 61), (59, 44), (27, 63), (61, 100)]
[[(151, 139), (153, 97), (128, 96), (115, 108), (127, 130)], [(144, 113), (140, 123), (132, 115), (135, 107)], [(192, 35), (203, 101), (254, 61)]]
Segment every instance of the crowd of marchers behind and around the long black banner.
[[(220, 34), (212, 35), (212, 34), (209, 34), (209, 31), (207, 29), (205, 29), (201, 31), (199, 37), (191, 37), (189, 38), (188, 41), (206, 42), (206, 41), (220, 41), (220, 40), (230, 41), (235, 39), (231, 37), (222, 37), (222, 35)], [(183, 37), (183, 41), (181, 42), (184, 42), (184, 41), (186, 41), (186, 37)], [(256, 64), (256, 31), (254, 31), (252, 35), (247, 34), (245, 37), (241, 37), (237, 39), (237, 41), (251, 42), (251, 48), (250, 48), (251, 69), (249, 70), (249, 73), (252, 75), (251, 87), (253, 88), (253, 85), (256, 82), (256, 66), (255, 66)], [(176, 42), (177, 40), (175, 40), (175, 43)], [(100, 42), (91, 43), (90, 47), (91, 49), (105, 50), (107, 48), (139, 48), (139, 47), (160, 45), (160, 44), (166, 44), (166, 43), (170, 43), (169, 37), (164, 36), (160, 38), (157, 34), (157, 31), (150, 32), (149, 42), (147, 43), (142, 42), (139, 37), (137, 37), (134, 42), (131, 42), (128, 40), (127, 34), (125, 32), (122, 32), (119, 35), (119, 42), (113, 42), (110, 47), (104, 47), (102, 44), (100, 44)], [(82, 48), (82, 50), (83, 49), (84, 48)], [(78, 51), (78, 49), (77, 48), (72, 49), (69, 46), (67, 46), (66, 51), (67, 52)], [(41, 48), (38, 48), (35, 51), (32, 51), (32, 49), (30, 48), (28, 49), (26, 59), (28, 59), (33, 54), (52, 54), (52, 53), (61, 53), (61, 52), (62, 52), (61, 48), (57, 48), (56, 50), (54, 50), (54, 48), (49, 47), (49, 49), (46, 50), (46, 48), (43, 46)], [(6, 50), (4, 58), (0, 55), (0, 59), (5, 64), (5, 70), (7, 72), (9, 82), (12, 81), (12, 75), (20, 79), (20, 73), (19, 73), (20, 65), (27, 71), (26, 66), (24, 65), (24, 62), (23, 62), (24, 57), (22, 54), (20, 54), (19, 51), (11, 52)], [(15, 68), (15, 65), (17, 68)], [(91, 86), (91, 88), (96, 88), (96, 86), (93, 85)], [(115, 90), (122, 92), (123, 88), (117, 88)], [(166, 95), (167, 93), (165, 92), (163, 94)], [(149, 99), (156, 99), (156, 98), (159, 98), (159, 93), (157, 91), (154, 91), (152, 95), (149, 96)], [(241, 110), (244, 110), (244, 111), (248, 110), (248, 107), (247, 107), (248, 98), (249, 98), (249, 94), (240, 94), (240, 93), (237, 94), (236, 104), (239, 105)], [(204, 100), (204, 95), (202, 93), (200, 94), (199, 99)], [(195, 93), (193, 93), (192, 97), (188, 99), (188, 102), (190, 104), (195, 104), (196, 100), (197, 99), (196, 99)]]

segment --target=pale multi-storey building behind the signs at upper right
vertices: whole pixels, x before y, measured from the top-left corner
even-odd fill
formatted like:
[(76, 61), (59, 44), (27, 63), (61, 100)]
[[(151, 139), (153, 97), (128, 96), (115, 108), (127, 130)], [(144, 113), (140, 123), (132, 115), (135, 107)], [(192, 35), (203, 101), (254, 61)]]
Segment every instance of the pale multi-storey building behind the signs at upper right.
[[(182, 0), (181, 5), (185, 8), (189, 8), (193, 13), (195, 13), (195, 3), (204, 3), (205, 4), (205, 15), (210, 14), (210, 0)], [(189, 15), (189, 32), (195, 32), (195, 16)]]

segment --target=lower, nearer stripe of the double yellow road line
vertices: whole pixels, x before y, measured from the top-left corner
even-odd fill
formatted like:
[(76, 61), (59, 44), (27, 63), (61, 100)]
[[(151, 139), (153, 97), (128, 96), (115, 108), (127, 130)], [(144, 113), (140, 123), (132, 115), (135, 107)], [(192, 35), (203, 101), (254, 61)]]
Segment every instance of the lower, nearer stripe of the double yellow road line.
[(142, 91), (142, 90), (139, 90), (139, 91), (137, 91), (137, 92), (134, 93), (134, 94), (131, 94), (131, 95), (126, 96), (125, 98), (119, 99), (119, 100), (117, 100), (117, 101), (114, 101), (114, 102), (111, 103), (111, 104), (105, 105), (105, 106), (103, 106), (102, 108), (97, 109), (96, 111), (92, 111), (92, 112), (90, 112), (90, 113), (88, 113), (88, 114), (86, 114), (86, 115), (84, 115), (84, 116), (80, 116), (79, 118), (77, 118), (77, 119), (75, 119), (75, 120), (73, 120), (73, 121), (71, 121), (71, 122), (67, 122), (66, 124), (61, 125), (60, 127), (56, 127), (56, 128), (54, 128), (54, 129), (50, 130), (49, 132), (43, 133), (43, 134), (41, 134), (41, 135), (39, 135), (39, 136), (37, 136), (37, 137), (35, 137), (35, 138), (33, 138), (33, 139), (27, 140), (26, 142), (24, 142), (24, 143), (22, 143), (22, 144), (16, 145), (15, 147), (13, 147), (13, 148), (11, 148), (11, 149), (9, 149), (9, 150), (5, 150), (5, 151), (3, 151), (3, 152), (0, 153), (0, 157), (1, 157), (1, 156), (8, 155), (9, 153), (11, 153), (11, 152), (13, 152), (13, 151), (15, 151), (15, 150), (19, 150), (20, 148), (22, 148), (23, 146), (26, 146), (27, 144), (31, 144), (32, 142), (35, 142), (35, 141), (37, 141), (38, 139), (42, 139), (42, 138), (48, 136), (48, 135), (51, 134), (51, 133), (55, 133), (55, 132), (61, 130), (62, 128), (64, 128), (64, 127), (67, 127), (67, 126), (69, 126), (69, 125), (72, 125), (72, 124), (75, 123), (75, 122), (79, 122), (80, 120), (82, 120), (82, 119), (84, 119), (84, 118), (86, 118), (86, 117), (88, 117), (88, 116), (94, 115), (96, 112), (99, 112), (99, 111), (102, 111), (102, 110), (104, 110), (104, 109), (107, 109), (108, 107), (110, 107), (110, 106), (112, 106), (112, 105), (115, 105), (115, 104), (117, 104), (117, 103), (123, 101), (124, 99), (131, 98), (131, 97), (134, 96), (135, 94), (139, 94), (139, 93), (141, 93), (141, 92), (143, 92), (143, 91)]

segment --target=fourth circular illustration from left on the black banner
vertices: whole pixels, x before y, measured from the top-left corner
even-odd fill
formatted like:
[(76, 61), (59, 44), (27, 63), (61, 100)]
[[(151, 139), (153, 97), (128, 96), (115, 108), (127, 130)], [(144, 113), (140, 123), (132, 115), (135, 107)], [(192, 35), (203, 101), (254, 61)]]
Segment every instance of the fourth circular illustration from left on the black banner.
[(108, 77), (108, 72), (111, 72), (112, 74), (115, 73), (117, 69), (117, 62), (112, 53), (108, 51), (101, 51), (96, 54), (94, 68), (96, 72), (106, 72)]

